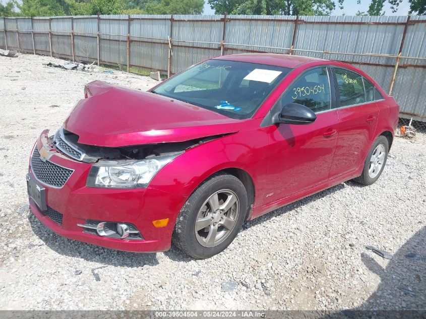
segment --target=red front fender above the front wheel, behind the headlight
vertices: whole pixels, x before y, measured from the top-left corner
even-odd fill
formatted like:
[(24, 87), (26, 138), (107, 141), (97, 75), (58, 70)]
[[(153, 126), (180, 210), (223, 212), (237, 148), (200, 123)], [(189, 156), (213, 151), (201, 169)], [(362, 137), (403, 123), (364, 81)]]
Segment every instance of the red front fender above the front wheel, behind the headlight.
[(189, 197), (209, 176), (223, 169), (246, 171), (259, 192), (259, 176), (266, 173), (268, 128), (238, 132), (186, 150), (152, 179), (150, 187)]

